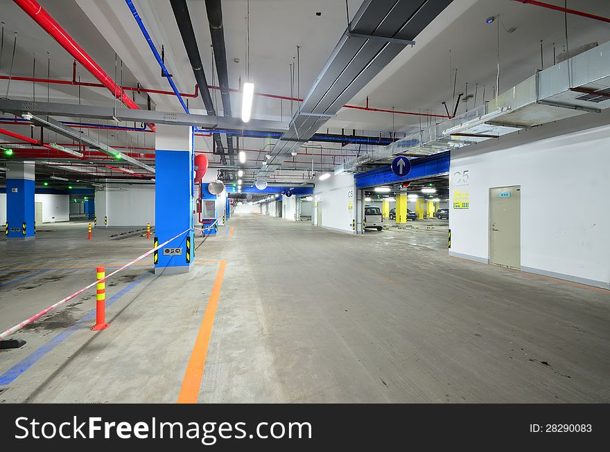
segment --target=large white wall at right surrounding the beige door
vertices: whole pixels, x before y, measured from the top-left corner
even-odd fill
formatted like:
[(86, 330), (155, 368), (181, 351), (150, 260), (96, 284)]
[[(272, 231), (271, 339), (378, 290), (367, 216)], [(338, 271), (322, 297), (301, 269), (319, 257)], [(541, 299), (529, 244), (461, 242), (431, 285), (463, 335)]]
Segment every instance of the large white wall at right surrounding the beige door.
[(451, 199), (470, 199), (451, 204), (450, 254), (488, 262), (489, 188), (521, 186), (521, 269), (610, 288), (609, 123), (588, 114), (452, 151)]

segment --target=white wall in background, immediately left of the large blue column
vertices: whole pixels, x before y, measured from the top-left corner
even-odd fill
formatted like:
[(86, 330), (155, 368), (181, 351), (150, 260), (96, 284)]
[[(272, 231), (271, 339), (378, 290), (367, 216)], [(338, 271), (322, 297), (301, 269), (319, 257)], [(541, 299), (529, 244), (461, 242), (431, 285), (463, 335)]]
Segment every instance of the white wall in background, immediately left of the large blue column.
[(96, 191), (98, 226), (146, 226), (155, 224), (155, 186), (112, 184)]

